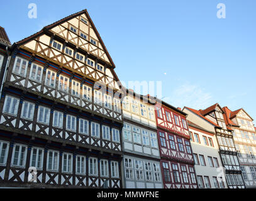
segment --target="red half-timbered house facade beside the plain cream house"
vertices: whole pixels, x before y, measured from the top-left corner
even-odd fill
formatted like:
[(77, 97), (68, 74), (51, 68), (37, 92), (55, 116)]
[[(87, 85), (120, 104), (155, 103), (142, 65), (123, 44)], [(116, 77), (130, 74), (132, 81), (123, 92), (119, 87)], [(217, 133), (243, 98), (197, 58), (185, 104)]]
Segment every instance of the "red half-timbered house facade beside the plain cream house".
[(164, 188), (198, 188), (185, 112), (157, 101), (155, 116)]

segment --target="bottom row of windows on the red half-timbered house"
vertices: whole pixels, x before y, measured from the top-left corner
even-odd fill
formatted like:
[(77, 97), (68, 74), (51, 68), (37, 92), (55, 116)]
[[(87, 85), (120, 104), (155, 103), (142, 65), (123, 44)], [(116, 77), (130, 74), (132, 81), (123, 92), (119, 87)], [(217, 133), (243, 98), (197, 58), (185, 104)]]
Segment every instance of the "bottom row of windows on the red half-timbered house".
[[(187, 168), (186, 165), (181, 165), (181, 175), (182, 178), (180, 177), (179, 173), (179, 168), (176, 163), (171, 163), (171, 168), (172, 168), (172, 175), (175, 183), (182, 183), (181, 179), (183, 180), (183, 183), (189, 183), (189, 177), (187, 175)], [(171, 177), (170, 177), (170, 168), (169, 168), (169, 163), (167, 162), (162, 162), (162, 168), (163, 168), (163, 173), (164, 173), (164, 180), (165, 182), (171, 182)], [(191, 177), (191, 182), (196, 183), (196, 175), (194, 172), (194, 168), (189, 166), (189, 174)]]

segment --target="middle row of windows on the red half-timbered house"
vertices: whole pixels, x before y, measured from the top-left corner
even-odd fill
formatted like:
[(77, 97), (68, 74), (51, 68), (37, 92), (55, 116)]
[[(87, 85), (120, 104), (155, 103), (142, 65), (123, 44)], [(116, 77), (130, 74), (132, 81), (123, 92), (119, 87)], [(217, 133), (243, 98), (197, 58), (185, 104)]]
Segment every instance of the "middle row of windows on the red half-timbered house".
[[(190, 143), (186, 139), (184, 139), (185, 145), (183, 144), (182, 138), (174, 137), (172, 134), (168, 134), (168, 140), (166, 140), (165, 133), (162, 132), (159, 132), (159, 138), (160, 144), (163, 147), (167, 147), (167, 142), (169, 142), (170, 149), (177, 150), (177, 148), (179, 148), (179, 151), (185, 152), (186, 148), (186, 152), (192, 154)], [(177, 139), (177, 143), (175, 143), (175, 138)]]

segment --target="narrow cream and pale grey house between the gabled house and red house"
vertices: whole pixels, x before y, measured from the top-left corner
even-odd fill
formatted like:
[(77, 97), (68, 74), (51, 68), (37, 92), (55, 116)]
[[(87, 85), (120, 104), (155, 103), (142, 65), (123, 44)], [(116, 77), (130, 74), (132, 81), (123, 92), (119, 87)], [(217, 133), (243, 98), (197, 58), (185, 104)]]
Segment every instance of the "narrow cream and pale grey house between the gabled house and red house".
[(162, 188), (154, 106), (127, 90), (123, 99), (123, 182), (125, 188)]

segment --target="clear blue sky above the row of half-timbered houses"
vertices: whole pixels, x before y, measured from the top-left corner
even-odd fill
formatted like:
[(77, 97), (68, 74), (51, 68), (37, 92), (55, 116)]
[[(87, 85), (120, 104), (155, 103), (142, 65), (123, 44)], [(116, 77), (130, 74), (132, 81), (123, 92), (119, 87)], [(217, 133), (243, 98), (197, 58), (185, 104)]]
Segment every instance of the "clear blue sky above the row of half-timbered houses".
[[(28, 4), (37, 18), (28, 18)], [(216, 16), (217, 4), (226, 18)], [(218, 102), (256, 118), (256, 1), (3, 1), (0, 26), (12, 43), (87, 9), (120, 80), (162, 80), (175, 107), (204, 109)], [(153, 95), (153, 94), (152, 94)]]

